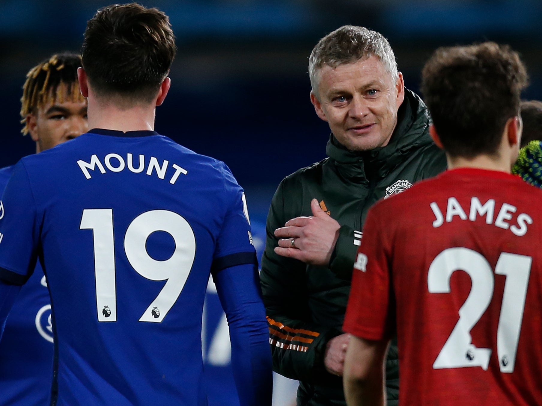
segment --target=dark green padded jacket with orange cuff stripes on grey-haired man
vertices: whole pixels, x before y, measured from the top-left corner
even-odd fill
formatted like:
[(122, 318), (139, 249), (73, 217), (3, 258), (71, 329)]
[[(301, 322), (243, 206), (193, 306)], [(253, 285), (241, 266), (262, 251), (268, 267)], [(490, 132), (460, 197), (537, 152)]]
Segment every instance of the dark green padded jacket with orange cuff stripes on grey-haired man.
[[(422, 100), (406, 90), (398, 122), (387, 146), (351, 152), (332, 135), (329, 158), (299, 169), (282, 180), (267, 218), (267, 244), (260, 273), (276, 372), (299, 379), (298, 405), (345, 405), (342, 379), (324, 368), (324, 351), (342, 333), (356, 257), (367, 209), (386, 195), (446, 169), (444, 153), (431, 141), (429, 116)], [(301, 215), (312, 215), (311, 200), (324, 202), (341, 225), (330, 267), (280, 257), (276, 228)], [(416, 208), (413, 207), (413, 210)], [(397, 213), (398, 216), (408, 213)], [(397, 404), (398, 356), (392, 345), (386, 364), (388, 404)]]

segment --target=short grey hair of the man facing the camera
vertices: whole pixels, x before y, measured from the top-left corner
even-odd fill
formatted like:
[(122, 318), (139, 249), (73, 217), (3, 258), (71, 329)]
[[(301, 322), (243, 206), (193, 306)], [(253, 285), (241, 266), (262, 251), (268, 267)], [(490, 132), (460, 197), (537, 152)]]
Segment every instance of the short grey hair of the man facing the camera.
[(395, 54), (382, 34), (356, 25), (343, 25), (330, 32), (318, 41), (308, 58), (313, 93), (317, 95), (318, 73), (324, 65), (335, 69), (343, 63), (354, 63), (371, 55), (378, 57), (393, 81), (397, 81), (399, 73)]

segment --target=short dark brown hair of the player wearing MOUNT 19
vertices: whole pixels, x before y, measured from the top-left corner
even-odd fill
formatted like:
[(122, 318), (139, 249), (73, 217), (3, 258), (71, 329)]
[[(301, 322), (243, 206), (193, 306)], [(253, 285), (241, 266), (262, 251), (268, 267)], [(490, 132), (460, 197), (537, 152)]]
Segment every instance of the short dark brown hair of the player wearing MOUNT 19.
[(113, 4), (87, 23), (83, 68), (97, 94), (151, 102), (176, 51), (164, 12), (137, 3)]

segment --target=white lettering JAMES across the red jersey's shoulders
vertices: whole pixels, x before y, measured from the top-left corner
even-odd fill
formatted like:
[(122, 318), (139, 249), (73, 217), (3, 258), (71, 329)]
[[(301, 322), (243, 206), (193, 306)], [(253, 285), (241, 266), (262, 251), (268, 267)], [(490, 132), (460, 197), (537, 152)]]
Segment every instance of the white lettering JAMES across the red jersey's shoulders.
[(469, 215), (463, 210), (463, 207), (459, 204), (456, 198), (448, 198), (448, 204), (446, 206), (446, 218), (442, 214), (440, 207), (438, 207), (437, 202), (431, 202), (430, 204), (433, 214), (435, 214), (435, 220), (433, 221), (433, 227), (438, 228), (444, 224), (444, 221), (451, 222), (454, 220), (454, 216), (461, 220), (470, 220), (476, 221), (478, 215), (486, 215), (486, 224), (493, 224), (496, 227), (503, 228), (504, 230), (510, 230), (518, 237), (525, 235), (527, 233), (527, 225), (533, 224), (533, 219), (530, 215), (526, 213), (520, 213), (516, 219), (516, 224), (510, 225), (507, 221), (512, 220), (513, 213), (518, 211), (518, 208), (508, 204), (503, 203), (499, 209), (499, 214), (495, 221), (493, 222), (493, 215), (495, 213), (495, 200), (488, 199), (483, 205), (476, 196), (473, 196), (470, 199), (470, 209)]

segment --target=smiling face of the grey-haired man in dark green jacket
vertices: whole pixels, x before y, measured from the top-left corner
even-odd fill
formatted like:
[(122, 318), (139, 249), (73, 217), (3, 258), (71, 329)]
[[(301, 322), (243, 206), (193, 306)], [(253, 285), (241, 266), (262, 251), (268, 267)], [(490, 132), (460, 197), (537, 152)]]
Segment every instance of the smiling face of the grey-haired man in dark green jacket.
[(397, 81), (377, 56), (319, 71), (318, 94), (311, 101), (320, 119), (346, 148), (364, 151), (388, 145), (404, 99), (403, 75)]

